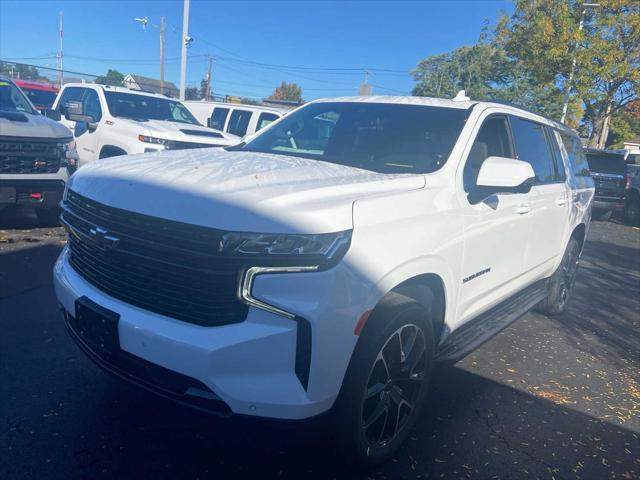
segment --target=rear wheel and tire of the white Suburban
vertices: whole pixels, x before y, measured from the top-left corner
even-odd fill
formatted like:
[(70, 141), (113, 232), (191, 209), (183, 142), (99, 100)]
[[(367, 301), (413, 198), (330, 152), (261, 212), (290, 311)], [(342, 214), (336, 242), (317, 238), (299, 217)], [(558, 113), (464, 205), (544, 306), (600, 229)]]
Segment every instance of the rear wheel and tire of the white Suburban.
[(575, 238), (569, 240), (560, 266), (547, 281), (547, 297), (536, 310), (547, 315), (559, 315), (567, 308), (576, 280), (580, 245)]

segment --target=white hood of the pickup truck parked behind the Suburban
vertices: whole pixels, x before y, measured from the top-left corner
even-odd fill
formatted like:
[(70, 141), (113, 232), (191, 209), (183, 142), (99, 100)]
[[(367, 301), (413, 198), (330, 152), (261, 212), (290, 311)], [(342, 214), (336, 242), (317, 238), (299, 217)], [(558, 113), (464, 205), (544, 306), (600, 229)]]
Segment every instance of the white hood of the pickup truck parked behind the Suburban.
[[(118, 121), (131, 122), (135, 124), (142, 135), (163, 138), (165, 140), (175, 140), (178, 142), (206, 143), (210, 145), (236, 145), (240, 143), (240, 137), (223, 133), (212, 128), (201, 125), (190, 125), (187, 123), (169, 122), (166, 120), (144, 120), (137, 121), (129, 118), (119, 118)], [(185, 133), (183, 130), (188, 131)], [(221, 135), (221, 137), (212, 136)]]

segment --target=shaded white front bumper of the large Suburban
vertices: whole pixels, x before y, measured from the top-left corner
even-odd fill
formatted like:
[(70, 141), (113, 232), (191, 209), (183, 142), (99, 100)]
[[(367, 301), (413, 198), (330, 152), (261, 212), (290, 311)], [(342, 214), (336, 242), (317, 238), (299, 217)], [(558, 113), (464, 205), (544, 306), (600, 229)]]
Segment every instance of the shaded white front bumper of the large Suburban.
[[(120, 348), (126, 356), (192, 379), (204, 386), (199, 390), (207, 392), (206, 397), (223, 402), (236, 414), (304, 419), (331, 408), (357, 340), (355, 323), (372, 301), (371, 290), (353, 282), (353, 274), (342, 263), (324, 272), (256, 277), (254, 296), (308, 322), (311, 351), (305, 389), (296, 372), (299, 322), (254, 307), (245, 321), (231, 325), (204, 327), (175, 320), (104, 294), (73, 270), (67, 255), (63, 250), (54, 267), (63, 315), (73, 315), (75, 301), (83, 296), (118, 313)], [(148, 378), (139, 378), (140, 374), (131, 378), (131, 372), (123, 375), (110, 365), (101, 366), (166, 393), (149, 385)], [(185, 394), (174, 399), (193, 404)]]

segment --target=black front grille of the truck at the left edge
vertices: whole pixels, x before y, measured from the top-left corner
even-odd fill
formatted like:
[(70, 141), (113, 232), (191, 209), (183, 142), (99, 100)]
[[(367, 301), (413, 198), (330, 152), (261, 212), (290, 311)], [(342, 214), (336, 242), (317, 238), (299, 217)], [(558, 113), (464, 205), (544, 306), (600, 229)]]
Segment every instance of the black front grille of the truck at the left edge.
[(0, 175), (56, 173), (63, 152), (58, 143), (32, 141), (0, 142)]

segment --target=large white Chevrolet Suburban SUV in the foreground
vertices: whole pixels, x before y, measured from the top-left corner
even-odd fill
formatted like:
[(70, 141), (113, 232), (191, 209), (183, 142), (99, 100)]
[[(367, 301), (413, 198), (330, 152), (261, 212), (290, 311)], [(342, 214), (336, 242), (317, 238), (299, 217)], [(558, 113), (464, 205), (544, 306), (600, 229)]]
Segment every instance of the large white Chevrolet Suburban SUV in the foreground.
[(226, 150), (79, 170), (55, 290), (104, 369), (223, 415), (328, 412), (341, 451), (376, 463), (434, 364), (564, 310), (584, 167), (575, 133), (515, 107), (314, 101)]

